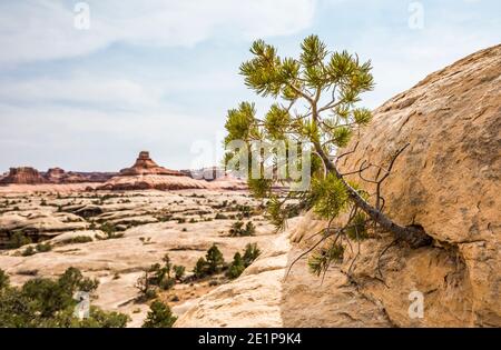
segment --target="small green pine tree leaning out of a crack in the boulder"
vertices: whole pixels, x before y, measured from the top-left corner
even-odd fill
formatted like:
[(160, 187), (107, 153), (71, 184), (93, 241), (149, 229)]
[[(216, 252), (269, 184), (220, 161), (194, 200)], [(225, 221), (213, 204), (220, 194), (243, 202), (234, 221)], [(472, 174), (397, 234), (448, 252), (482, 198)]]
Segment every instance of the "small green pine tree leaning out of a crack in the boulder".
[[(255, 41), (250, 52), (253, 58), (240, 66), (245, 84), (258, 96), (273, 98), (275, 103), (264, 118), (256, 116), (255, 104), (249, 102), (242, 102), (238, 108), (229, 110), (225, 143), (230, 146), (232, 141), (244, 141), (247, 149), (252, 149), (253, 141), (299, 140), (312, 151), (310, 189), (291, 191), (285, 198), (273, 192), (272, 184), (276, 179), (253, 177), (250, 167), (245, 169), (242, 162), (236, 167), (236, 170), (247, 171), (248, 186), (255, 197), (269, 198), (268, 213), (278, 228), (284, 227), (288, 211), (297, 208), (313, 209), (326, 219), (328, 224), (317, 233), (321, 240), (312, 248), (320, 248), (311, 259), (312, 270), (320, 273), (331, 262), (342, 259), (343, 239), (348, 236), (362, 238), (369, 226), (389, 231), (396, 240), (413, 248), (429, 244), (430, 237), (422, 229), (399, 224), (383, 212), (381, 184), (404, 148), (386, 167), (364, 164), (353, 172), (343, 173), (337, 166), (337, 161), (350, 153), (338, 154), (338, 150), (346, 147), (355, 131), (372, 118), (370, 110), (356, 106), (360, 94), (374, 87), (371, 62), (361, 62), (356, 54), (346, 51), (330, 52), (316, 36), (304, 39), (298, 58), (281, 58), (276, 48), (263, 40)], [(291, 149), (286, 151), (288, 153)], [(252, 156), (245, 157), (250, 162), (257, 161), (262, 170), (265, 167), (277, 169), (279, 164), (276, 158), (269, 166), (266, 163), (269, 159), (264, 159), (261, 153), (257, 160), (249, 159)], [(228, 161), (236, 158), (242, 159), (240, 150), (227, 148), (227, 164), (234, 164)], [(379, 167), (379, 176), (375, 179), (363, 177), (363, 172), (373, 167)], [(376, 193), (371, 196), (356, 183), (348, 182), (346, 176), (353, 173), (375, 183)], [(285, 202), (289, 199), (295, 199), (297, 204), (287, 210)], [(334, 228), (333, 220), (344, 212), (348, 213), (347, 222), (344, 227)]]

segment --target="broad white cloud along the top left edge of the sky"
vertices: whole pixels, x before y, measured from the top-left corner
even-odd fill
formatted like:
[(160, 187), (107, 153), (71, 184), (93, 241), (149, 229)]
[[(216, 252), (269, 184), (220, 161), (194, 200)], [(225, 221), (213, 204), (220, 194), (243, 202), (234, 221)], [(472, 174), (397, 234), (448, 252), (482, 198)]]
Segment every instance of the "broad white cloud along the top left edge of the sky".
[(63, 1), (0, 4), (0, 62), (77, 57), (112, 42), (194, 46), (216, 33), (254, 39), (307, 28), (315, 0), (87, 1), (90, 29), (73, 27)]

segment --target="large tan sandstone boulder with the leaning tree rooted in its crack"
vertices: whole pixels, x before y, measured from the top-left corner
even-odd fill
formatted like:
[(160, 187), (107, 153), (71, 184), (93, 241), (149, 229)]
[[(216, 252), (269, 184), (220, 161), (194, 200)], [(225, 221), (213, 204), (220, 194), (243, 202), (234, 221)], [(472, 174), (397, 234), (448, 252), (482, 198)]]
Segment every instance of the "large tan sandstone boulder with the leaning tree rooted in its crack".
[[(259, 292), (259, 279), (249, 283), (246, 277), (230, 290), (253, 290), (253, 296), (275, 302), (275, 313), (267, 318), (274, 321), (267, 326), (500, 327), (500, 91), (501, 46), (497, 46), (432, 73), (384, 103), (360, 139), (346, 148), (356, 146), (341, 163), (345, 172), (358, 169), (364, 160), (387, 166), (396, 150), (410, 144), (384, 182), (385, 211), (401, 224), (422, 226), (434, 239), (431, 247), (391, 247), (379, 273), (377, 260), (393, 238), (371, 237), (360, 246), (350, 279), (356, 243), (346, 247), (344, 262), (331, 267), (323, 283), (307, 271), (303, 258), (286, 280), (287, 268), (277, 273), (274, 290), (279, 298), (265, 289)], [(375, 171), (366, 171), (365, 178)], [(373, 192), (371, 183), (353, 180)], [(311, 236), (324, 224), (312, 214), (294, 224), (288, 232), (294, 244), (282, 252), (286, 266), (312, 247)], [(203, 326), (208, 318), (214, 324), (240, 326), (243, 317), (225, 307), (234, 296), (225, 293), (227, 289), (203, 298), (177, 326)], [(424, 318), (409, 313), (415, 291), (424, 297)], [(215, 304), (222, 311), (209, 310)], [(259, 317), (248, 312), (243, 326), (261, 324)]]

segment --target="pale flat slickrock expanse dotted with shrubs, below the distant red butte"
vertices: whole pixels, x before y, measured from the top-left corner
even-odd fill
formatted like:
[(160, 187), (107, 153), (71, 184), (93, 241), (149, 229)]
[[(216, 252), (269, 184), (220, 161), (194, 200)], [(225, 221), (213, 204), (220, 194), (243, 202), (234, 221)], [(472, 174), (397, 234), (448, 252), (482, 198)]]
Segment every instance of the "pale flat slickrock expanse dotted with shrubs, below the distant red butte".
[[(80, 269), (100, 282), (92, 304), (128, 313), (130, 327), (143, 323), (148, 303), (135, 287), (144, 270), (168, 253), (187, 276), (216, 243), (227, 262), (247, 243), (264, 248), (275, 237), (259, 202), (246, 192), (209, 190), (128, 192), (3, 193), (0, 228), (3, 238), (22, 232), (33, 243), (0, 251), (0, 267), (14, 284), (33, 277), (57, 277)], [(236, 221), (255, 226), (255, 234), (229, 237)], [(52, 249), (26, 256), (36, 242)], [(224, 277), (216, 276), (160, 292), (176, 314), (185, 312)]]

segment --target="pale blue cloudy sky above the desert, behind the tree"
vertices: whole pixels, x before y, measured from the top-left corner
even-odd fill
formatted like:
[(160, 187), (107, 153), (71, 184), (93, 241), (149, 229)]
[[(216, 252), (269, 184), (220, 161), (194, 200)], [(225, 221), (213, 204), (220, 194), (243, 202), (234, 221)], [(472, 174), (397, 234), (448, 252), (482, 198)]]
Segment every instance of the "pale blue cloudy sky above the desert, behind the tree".
[(501, 42), (499, 0), (0, 0), (0, 172), (217, 162), (255, 39), (297, 56), (315, 33), (372, 60), (376, 108)]

